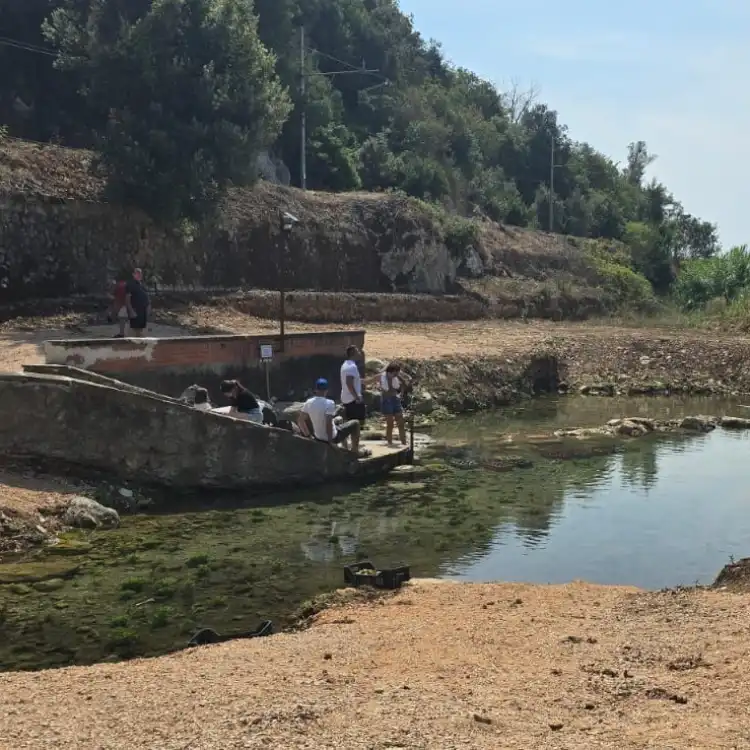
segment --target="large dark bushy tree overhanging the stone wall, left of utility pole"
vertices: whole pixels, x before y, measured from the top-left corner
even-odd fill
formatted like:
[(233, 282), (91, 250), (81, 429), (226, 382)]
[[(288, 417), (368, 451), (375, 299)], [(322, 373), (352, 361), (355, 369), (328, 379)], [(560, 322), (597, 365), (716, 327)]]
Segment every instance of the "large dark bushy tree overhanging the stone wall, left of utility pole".
[(161, 220), (200, 221), (289, 112), (250, 0), (73, 0), (47, 35), (80, 74), (110, 195)]

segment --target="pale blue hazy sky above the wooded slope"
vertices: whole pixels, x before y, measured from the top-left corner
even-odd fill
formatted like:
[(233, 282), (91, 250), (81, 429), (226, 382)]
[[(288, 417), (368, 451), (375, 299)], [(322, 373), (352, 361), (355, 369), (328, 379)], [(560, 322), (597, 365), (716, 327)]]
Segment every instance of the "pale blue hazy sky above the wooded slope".
[(750, 245), (750, 0), (400, 0), (446, 58), (501, 89), (534, 86), (574, 140), (648, 176)]

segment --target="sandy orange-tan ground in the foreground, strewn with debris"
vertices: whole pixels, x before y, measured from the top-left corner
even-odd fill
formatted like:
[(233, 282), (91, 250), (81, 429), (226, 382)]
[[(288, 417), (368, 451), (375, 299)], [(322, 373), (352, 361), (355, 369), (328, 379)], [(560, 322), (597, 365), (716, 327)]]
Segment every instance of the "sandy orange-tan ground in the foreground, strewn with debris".
[(749, 603), (422, 582), (302, 633), (0, 675), (0, 747), (748, 748)]

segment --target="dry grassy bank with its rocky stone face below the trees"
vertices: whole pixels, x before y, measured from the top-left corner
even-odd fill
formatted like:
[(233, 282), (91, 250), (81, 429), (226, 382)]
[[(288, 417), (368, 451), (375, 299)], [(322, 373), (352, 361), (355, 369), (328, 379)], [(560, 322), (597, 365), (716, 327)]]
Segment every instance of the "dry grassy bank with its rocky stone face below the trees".
[[(101, 293), (108, 268), (134, 262), (162, 286), (277, 288), (283, 273), (290, 289), (468, 295), (501, 317), (585, 317), (649, 298), (619, 243), (461, 219), (401, 193), (259, 183), (229, 192), (218, 226), (175, 238), (106, 203), (90, 162), (83, 150), (0, 144), (0, 247), (15, 248), (0, 259), (3, 301)], [(288, 248), (283, 211), (300, 222)]]

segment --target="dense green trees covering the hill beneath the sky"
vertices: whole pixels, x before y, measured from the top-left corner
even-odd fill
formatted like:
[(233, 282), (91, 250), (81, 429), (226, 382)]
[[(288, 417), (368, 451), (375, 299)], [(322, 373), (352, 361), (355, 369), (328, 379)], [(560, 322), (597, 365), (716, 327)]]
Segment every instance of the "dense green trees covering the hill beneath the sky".
[(311, 188), (623, 240), (657, 291), (718, 250), (646, 181), (645, 143), (620, 167), (576, 142), (533, 96), (449, 65), (397, 0), (24, 0), (0, 4), (0, 33), (0, 123), (95, 149), (112, 192), (159, 218), (200, 220), (264, 149), (298, 174), (304, 110)]

